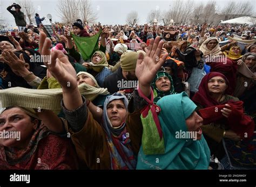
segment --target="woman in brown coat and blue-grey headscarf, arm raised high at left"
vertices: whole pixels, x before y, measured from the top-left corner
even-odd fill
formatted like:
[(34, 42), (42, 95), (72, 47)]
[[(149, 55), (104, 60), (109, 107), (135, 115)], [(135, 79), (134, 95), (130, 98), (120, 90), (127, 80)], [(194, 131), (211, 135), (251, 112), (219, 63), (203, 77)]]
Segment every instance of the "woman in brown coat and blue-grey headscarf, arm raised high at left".
[(51, 62), (45, 61), (45, 66), (62, 85), (62, 107), (68, 120), (66, 129), (82, 162), (80, 167), (135, 169), (142, 139), (142, 125), (138, 122), (138, 107), (144, 106), (141, 99), (134, 96), (128, 107), (126, 97), (114, 93), (107, 97), (103, 111), (98, 108), (99, 113), (102, 112), (99, 123), (92, 116), (95, 111), (90, 111), (93, 109), (87, 107), (89, 103), (80, 95), (76, 71), (62, 52), (50, 52), (50, 45), (51, 41), (41, 33), (39, 50), (42, 55), (51, 55)]

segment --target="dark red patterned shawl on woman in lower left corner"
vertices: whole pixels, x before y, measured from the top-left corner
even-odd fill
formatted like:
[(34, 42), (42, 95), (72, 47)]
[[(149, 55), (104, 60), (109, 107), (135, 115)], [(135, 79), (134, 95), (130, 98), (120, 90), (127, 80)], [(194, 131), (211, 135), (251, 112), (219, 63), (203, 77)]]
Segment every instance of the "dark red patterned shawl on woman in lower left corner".
[(71, 139), (49, 134), (43, 127), (26, 150), (0, 145), (0, 169), (78, 169), (78, 165)]

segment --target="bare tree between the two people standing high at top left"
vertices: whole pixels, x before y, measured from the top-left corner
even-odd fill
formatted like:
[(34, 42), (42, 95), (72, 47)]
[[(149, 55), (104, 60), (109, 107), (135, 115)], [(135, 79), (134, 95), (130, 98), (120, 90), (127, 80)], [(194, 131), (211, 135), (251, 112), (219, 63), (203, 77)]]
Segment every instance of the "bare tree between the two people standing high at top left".
[(35, 15), (35, 8), (33, 5), (32, 0), (18, 0), (16, 1), (17, 4), (21, 5), (22, 9), (24, 10), (23, 13), (26, 16), (27, 21), (29, 24), (32, 23), (34, 15)]

